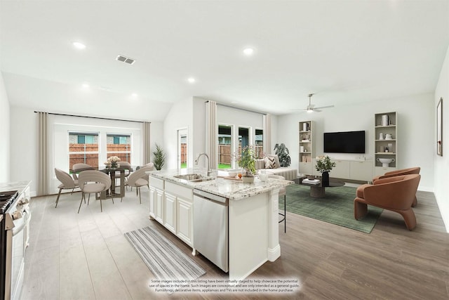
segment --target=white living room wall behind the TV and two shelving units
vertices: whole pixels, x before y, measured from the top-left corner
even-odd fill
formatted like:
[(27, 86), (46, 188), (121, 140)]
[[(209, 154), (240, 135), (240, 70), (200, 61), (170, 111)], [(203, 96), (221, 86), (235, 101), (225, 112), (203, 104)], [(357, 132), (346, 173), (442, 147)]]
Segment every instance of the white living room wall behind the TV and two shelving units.
[[(345, 105), (322, 112), (300, 112), (278, 117), (275, 143), (285, 143), (290, 150), (292, 167), (298, 167), (298, 122), (314, 121), (314, 155), (323, 155), (323, 133), (366, 131), (366, 160), (374, 159), (374, 114), (398, 113), (397, 167), (421, 167), (420, 190), (434, 190), (434, 96), (431, 94), (376, 100)], [(355, 159), (360, 155), (330, 154), (338, 159)]]

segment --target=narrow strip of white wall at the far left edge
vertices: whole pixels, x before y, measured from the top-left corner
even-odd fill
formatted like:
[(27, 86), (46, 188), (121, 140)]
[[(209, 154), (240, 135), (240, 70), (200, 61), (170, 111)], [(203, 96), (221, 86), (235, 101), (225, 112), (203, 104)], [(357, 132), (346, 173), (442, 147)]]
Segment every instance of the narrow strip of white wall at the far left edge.
[(10, 164), (10, 111), (9, 100), (6, 95), (5, 84), (3, 75), (0, 72), (0, 183), (10, 181), (11, 176), (11, 164)]

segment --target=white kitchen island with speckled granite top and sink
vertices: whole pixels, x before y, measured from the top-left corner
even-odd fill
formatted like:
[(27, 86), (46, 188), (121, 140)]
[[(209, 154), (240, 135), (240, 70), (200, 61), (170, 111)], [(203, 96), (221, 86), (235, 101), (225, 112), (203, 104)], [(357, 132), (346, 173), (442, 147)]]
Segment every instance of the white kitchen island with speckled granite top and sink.
[[(156, 219), (181, 240), (189, 244), (196, 254), (199, 237), (195, 242), (194, 233), (206, 231), (210, 237), (215, 237), (212, 226), (194, 228), (198, 219), (206, 219), (208, 214), (194, 214), (194, 203), (198, 199), (194, 191), (201, 191), (222, 197), (227, 202), (226, 226), (227, 238), (227, 268), (229, 280), (238, 281), (246, 278), (266, 261), (275, 261), (281, 256), (279, 246), (279, 189), (293, 183), (269, 178), (254, 183), (242, 183), (229, 178), (212, 178), (208, 176), (192, 176), (186, 174), (204, 174), (204, 171), (194, 169), (149, 171), (149, 217)], [(197, 178), (199, 177), (199, 178)], [(187, 178), (187, 179), (186, 179)], [(197, 192), (199, 193), (199, 192)], [(195, 197), (195, 202), (194, 202)], [(195, 216), (195, 220), (194, 220)], [(215, 220), (207, 219), (211, 222)], [(195, 222), (194, 222), (195, 221)], [(201, 222), (200, 222), (201, 223)], [(224, 237), (225, 238), (225, 237)], [(203, 241), (204, 239), (201, 239)], [(217, 249), (221, 242), (217, 243)], [(218, 251), (218, 250), (217, 250)], [(201, 251), (200, 251), (201, 253)]]

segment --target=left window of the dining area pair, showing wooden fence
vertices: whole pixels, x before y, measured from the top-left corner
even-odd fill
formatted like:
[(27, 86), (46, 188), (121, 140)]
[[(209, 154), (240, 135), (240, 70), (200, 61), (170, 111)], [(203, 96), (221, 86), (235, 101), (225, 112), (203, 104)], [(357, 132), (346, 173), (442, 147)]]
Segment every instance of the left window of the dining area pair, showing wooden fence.
[(98, 133), (69, 132), (69, 168), (74, 164), (98, 167)]

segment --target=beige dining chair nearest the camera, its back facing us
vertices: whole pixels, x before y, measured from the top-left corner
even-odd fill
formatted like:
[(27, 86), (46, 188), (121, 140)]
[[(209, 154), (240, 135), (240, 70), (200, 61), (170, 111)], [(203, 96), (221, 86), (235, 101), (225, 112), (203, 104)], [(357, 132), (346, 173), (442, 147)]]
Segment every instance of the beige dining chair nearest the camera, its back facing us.
[[(87, 204), (89, 205), (89, 200), (91, 193), (100, 193), (100, 211), (103, 211), (102, 207), (102, 199), (105, 199), (105, 195), (107, 190), (111, 189), (111, 178), (108, 174), (103, 173), (102, 171), (97, 170), (86, 170), (81, 171), (79, 174), (79, 188), (81, 188), (81, 202), (79, 202), (79, 208), (78, 208), (78, 214), (79, 209), (81, 209), (81, 204), (86, 203), (86, 194), (89, 194), (89, 199)], [(114, 204), (114, 198), (112, 198), (112, 204)]]

